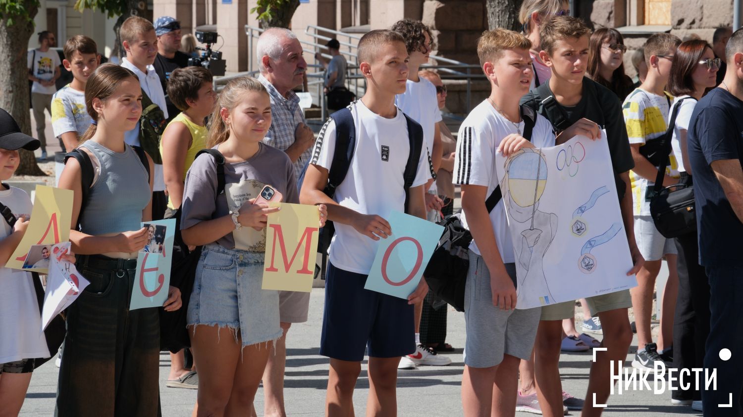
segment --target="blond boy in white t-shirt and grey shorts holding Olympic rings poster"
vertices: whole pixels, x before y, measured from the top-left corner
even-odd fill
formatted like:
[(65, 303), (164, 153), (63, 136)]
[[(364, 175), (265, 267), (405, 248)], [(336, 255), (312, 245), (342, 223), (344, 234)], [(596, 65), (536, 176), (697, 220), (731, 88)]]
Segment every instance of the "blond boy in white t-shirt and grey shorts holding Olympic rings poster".
[[(462, 221), (473, 235), (464, 294), (465, 416), (515, 414), (519, 360), (531, 357), (539, 325), (540, 307), (515, 309), (516, 260), (504, 203), (499, 201), (490, 213), (485, 206), (499, 185), (496, 153), (508, 156), (522, 148), (555, 144), (550, 122), (536, 113), (531, 142), (522, 137), (525, 121), (519, 99), (533, 77), (530, 47), (529, 39), (511, 30), (483, 33), (477, 53), (491, 93), (459, 129), (454, 183), (461, 185)], [(478, 298), (470, 297), (474, 293)]]

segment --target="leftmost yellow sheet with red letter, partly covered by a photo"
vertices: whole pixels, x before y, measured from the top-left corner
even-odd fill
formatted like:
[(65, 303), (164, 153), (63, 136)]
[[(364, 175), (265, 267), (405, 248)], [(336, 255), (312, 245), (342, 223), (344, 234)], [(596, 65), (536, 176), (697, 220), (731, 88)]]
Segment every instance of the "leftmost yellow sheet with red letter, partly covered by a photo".
[[(7, 267), (24, 269), (28, 251), (33, 245), (54, 245), (70, 240), (72, 223), (73, 191), (63, 188), (36, 185), (36, 198), (33, 201), (31, 220)], [(48, 273), (48, 268), (26, 268), (25, 271)]]

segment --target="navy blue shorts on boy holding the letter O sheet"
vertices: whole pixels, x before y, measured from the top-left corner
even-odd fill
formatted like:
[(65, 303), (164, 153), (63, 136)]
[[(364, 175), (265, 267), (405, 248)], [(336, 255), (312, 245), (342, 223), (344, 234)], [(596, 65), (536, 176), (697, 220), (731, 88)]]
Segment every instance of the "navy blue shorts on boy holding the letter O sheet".
[(320, 355), (341, 361), (395, 358), (415, 352), (413, 306), (407, 300), (364, 289), (368, 275), (328, 262)]

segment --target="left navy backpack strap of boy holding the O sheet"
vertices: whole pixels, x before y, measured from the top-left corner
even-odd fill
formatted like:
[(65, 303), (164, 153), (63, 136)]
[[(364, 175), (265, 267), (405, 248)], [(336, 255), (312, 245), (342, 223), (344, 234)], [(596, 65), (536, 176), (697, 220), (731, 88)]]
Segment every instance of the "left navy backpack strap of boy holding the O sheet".
[(343, 183), (348, 168), (351, 168), (351, 158), (356, 148), (356, 125), (349, 108), (342, 108), (330, 116), (335, 122), (335, 151), (328, 170), (328, 184), (322, 192), (333, 198), (336, 188)]

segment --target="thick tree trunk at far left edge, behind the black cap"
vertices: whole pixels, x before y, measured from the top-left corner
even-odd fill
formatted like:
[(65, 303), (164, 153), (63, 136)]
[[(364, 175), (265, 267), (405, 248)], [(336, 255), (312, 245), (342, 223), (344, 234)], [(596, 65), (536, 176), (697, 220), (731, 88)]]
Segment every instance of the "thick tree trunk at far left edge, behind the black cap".
[[(39, 8), (34, 1), (22, 1), (26, 16), (7, 16), (0, 19), (0, 108), (4, 108), (18, 122), (21, 131), (31, 134), (29, 111), (27, 45), (33, 34), (33, 16)], [(36, 164), (33, 152), (21, 150), (19, 175), (46, 175)]]

